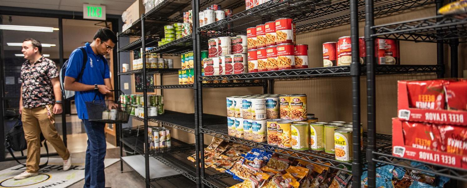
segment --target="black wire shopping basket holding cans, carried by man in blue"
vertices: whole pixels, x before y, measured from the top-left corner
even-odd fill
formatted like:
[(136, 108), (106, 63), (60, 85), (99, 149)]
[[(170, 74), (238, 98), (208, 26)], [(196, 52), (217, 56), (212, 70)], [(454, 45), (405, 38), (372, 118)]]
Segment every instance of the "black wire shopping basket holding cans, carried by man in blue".
[[(120, 91), (120, 90), (119, 90)], [(128, 123), (131, 112), (131, 105), (121, 104), (118, 101), (112, 100), (96, 100), (99, 93), (96, 93), (92, 102), (86, 102), (86, 109), (88, 111), (88, 118), (90, 121), (102, 123)], [(120, 94), (123, 94), (120, 91)], [(109, 109), (109, 104), (117, 104), (117, 108)]]

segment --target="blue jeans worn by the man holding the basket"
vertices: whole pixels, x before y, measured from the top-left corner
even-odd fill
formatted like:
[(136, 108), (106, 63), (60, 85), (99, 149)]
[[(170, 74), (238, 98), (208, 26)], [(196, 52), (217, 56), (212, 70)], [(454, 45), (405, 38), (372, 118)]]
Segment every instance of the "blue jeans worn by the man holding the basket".
[(88, 136), (85, 164), (84, 188), (104, 188), (106, 176), (104, 174), (104, 158), (106, 157), (105, 123), (83, 119)]

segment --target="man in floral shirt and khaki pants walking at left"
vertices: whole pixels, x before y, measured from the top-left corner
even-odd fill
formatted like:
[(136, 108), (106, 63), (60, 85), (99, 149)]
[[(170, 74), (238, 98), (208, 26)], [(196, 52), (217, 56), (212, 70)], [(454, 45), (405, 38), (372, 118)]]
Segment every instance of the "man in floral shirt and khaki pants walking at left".
[(41, 158), (41, 132), (64, 160), (63, 170), (71, 167), (71, 156), (55, 129), (55, 114), (62, 113), (62, 92), (55, 63), (42, 56), (39, 41), (28, 38), (21, 52), (27, 59), (21, 67), (20, 113), (28, 145), (26, 171), (14, 176), (21, 180), (38, 174)]

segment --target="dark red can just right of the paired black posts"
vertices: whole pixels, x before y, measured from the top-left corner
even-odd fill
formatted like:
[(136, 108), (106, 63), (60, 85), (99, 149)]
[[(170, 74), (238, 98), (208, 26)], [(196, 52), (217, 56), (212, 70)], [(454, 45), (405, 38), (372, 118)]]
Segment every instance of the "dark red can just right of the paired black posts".
[(399, 43), (394, 39), (376, 39), (378, 64), (399, 64)]

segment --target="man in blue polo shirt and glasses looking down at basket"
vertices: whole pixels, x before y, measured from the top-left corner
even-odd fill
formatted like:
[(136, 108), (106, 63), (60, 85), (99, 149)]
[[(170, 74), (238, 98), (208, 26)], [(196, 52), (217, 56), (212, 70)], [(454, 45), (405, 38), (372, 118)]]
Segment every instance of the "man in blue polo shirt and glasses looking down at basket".
[[(85, 188), (104, 188), (104, 158), (106, 156), (105, 123), (89, 121), (85, 102), (92, 101), (97, 94), (97, 100), (113, 101), (112, 84), (107, 60), (104, 57), (113, 50), (117, 43), (117, 36), (108, 28), (101, 28), (94, 35), (91, 44), (86, 43), (87, 62), (85, 70), (79, 80), (78, 75), (83, 66), (83, 52), (75, 49), (68, 60), (65, 72), (65, 90), (75, 93), (78, 117), (83, 120), (88, 136), (85, 164)], [(110, 102), (109, 108), (117, 108), (117, 104)]]

